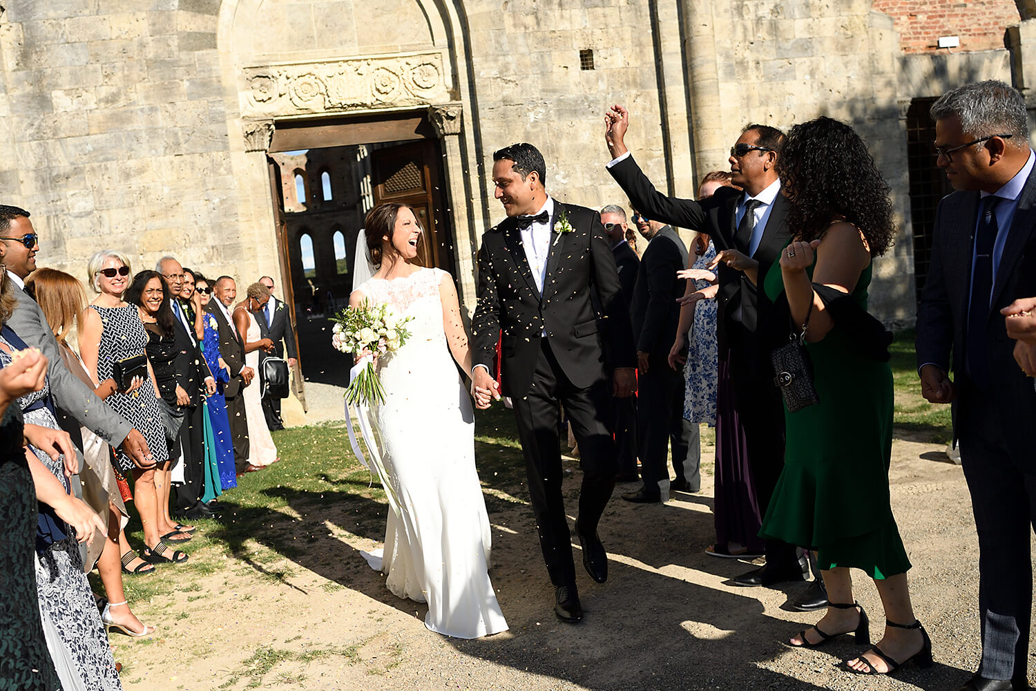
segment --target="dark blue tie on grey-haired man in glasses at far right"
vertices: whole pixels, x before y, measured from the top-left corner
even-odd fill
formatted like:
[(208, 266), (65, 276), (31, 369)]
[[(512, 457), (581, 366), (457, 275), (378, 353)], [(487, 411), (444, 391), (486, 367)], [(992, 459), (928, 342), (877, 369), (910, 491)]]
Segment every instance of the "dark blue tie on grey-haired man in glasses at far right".
[(972, 270), (972, 294), (968, 306), (968, 342), (965, 346), (965, 371), (979, 387), (989, 385), (989, 350), (986, 324), (992, 293), (992, 251), (997, 244), (997, 204), (1000, 197), (987, 196), (975, 229), (975, 268)]

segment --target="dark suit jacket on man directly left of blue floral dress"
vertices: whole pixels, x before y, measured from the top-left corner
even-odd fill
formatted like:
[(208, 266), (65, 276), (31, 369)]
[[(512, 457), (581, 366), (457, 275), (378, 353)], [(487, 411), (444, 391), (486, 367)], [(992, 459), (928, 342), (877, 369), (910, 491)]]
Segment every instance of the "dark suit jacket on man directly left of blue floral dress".
[[(646, 213), (646, 211), (645, 211)], [(637, 350), (668, 357), (680, 324), (680, 304), (687, 282), (677, 271), (687, 267), (687, 248), (670, 226), (648, 243), (630, 303)]]

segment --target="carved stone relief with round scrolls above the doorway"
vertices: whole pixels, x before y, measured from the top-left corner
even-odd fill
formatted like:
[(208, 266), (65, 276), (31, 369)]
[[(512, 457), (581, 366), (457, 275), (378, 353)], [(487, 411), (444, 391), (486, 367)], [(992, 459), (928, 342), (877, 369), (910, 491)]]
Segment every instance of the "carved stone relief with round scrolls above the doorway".
[(444, 102), (450, 82), (438, 52), (248, 67), (241, 115), (284, 117)]

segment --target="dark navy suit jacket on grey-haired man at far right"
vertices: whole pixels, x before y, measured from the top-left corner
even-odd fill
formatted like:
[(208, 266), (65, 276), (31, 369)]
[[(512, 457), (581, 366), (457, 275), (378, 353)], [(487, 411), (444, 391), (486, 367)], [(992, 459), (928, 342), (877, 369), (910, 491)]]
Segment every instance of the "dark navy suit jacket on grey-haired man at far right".
[[(928, 277), (917, 311), (918, 367), (931, 363), (953, 372), (957, 384), (954, 436), (967, 427), (971, 385), (991, 393), (998, 407), (999, 429), (986, 430), (991, 438), (1007, 442), (1021, 469), (1036, 474), (1036, 454), (1029, 430), (1036, 421), (1036, 392), (1014, 362), (1014, 341), (1000, 310), (1019, 297), (1036, 295), (1036, 169), (1029, 175), (997, 268), (985, 335), (991, 380), (971, 382), (965, 373), (968, 307), (971, 296), (973, 236), (978, 222), (979, 193), (954, 192), (936, 211)], [(1003, 232), (1003, 230), (1001, 231)], [(952, 363), (950, 359), (952, 352)]]

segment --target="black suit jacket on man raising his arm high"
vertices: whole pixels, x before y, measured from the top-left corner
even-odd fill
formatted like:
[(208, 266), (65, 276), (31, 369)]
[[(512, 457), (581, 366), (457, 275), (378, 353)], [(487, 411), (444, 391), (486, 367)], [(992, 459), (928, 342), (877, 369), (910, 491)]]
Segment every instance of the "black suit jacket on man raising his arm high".
[[(609, 168), (608, 172), (630, 198), (630, 203), (649, 219), (708, 233), (717, 252), (740, 250), (748, 254), (750, 238), (737, 237), (736, 218), (743, 192), (723, 186), (700, 203), (693, 199), (666, 197), (655, 189), (632, 155)], [(759, 246), (752, 255), (759, 262), (760, 282), (770, 266), (780, 259), (781, 251), (792, 238), (787, 227), (787, 199), (783, 193), (778, 194), (770, 209)], [(762, 323), (770, 300), (762, 289), (753, 286), (742, 271), (720, 265), (717, 275), (720, 314), (718, 336), (721, 347), (724, 347), (727, 343), (726, 332), (737, 308), (741, 307), (741, 319), (745, 328), (754, 332)]]

